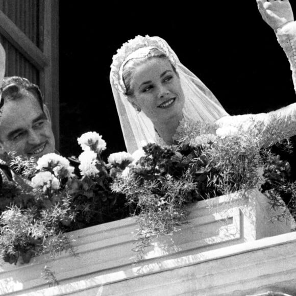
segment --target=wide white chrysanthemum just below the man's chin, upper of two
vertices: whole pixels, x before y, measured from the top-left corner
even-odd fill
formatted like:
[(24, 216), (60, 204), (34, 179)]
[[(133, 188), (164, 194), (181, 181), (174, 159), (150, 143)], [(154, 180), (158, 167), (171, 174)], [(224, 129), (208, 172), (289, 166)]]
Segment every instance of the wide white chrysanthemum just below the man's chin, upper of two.
[(56, 177), (73, 177), (74, 167), (63, 156), (56, 153), (48, 153), (40, 157), (37, 161), (37, 169), (52, 167)]

